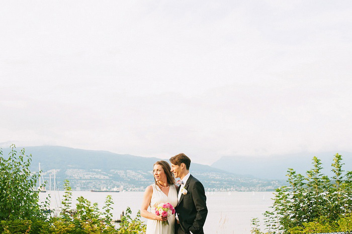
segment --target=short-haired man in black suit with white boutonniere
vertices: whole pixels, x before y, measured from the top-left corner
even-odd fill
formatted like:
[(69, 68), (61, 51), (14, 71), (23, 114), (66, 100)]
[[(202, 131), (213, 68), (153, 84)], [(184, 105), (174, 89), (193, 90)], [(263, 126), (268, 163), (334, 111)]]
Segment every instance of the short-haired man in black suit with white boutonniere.
[(191, 159), (185, 154), (170, 158), (171, 172), (181, 179), (176, 207), (175, 234), (204, 234), (203, 225), (208, 214), (204, 187), (190, 174)]

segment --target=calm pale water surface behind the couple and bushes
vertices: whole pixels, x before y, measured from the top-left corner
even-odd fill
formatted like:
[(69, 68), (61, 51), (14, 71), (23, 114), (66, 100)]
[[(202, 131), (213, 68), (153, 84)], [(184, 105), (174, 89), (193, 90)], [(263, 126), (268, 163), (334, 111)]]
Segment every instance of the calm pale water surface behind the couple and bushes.
[[(55, 207), (62, 200), (63, 191), (40, 193), (43, 201), (47, 194), (51, 194), (51, 206)], [(90, 192), (72, 191), (72, 203), (77, 197), (97, 202), (99, 207), (104, 206), (107, 195), (112, 195), (114, 205), (114, 219), (129, 206), (133, 217), (140, 209), (143, 192)], [(208, 216), (204, 225), (205, 233), (250, 233), (250, 219), (258, 217), (262, 220), (262, 213), (273, 204), (273, 192), (210, 192), (207, 195)], [(145, 219), (143, 219), (145, 220)], [(263, 230), (263, 227), (261, 227)]]

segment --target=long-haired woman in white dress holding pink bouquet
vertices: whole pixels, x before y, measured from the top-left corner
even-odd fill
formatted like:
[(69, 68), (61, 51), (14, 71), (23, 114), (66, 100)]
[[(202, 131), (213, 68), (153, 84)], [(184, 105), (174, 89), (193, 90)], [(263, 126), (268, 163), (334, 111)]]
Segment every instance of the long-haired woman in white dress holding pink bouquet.
[[(168, 202), (173, 207), (178, 203), (175, 179), (170, 165), (165, 161), (157, 161), (154, 163), (153, 175), (155, 183), (145, 189), (141, 207), (141, 216), (148, 219), (146, 234), (174, 234), (175, 215), (161, 217), (155, 214), (155, 207), (160, 203)], [(166, 220), (169, 225), (161, 224), (161, 221)]]

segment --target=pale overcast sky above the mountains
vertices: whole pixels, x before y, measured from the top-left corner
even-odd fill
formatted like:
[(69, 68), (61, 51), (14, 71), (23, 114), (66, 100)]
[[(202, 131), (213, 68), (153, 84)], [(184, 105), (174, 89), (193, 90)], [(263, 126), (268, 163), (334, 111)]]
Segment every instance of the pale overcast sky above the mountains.
[(351, 1), (1, 5), (3, 148), (352, 151)]

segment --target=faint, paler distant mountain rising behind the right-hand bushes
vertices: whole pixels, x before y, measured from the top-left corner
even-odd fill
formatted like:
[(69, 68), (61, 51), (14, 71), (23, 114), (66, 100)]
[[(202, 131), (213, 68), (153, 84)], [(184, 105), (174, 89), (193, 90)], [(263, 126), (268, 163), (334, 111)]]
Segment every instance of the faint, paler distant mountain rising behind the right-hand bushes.
[(342, 155), (342, 169), (352, 171), (351, 152), (320, 152), (276, 155), (271, 157), (222, 157), (211, 166), (224, 171), (241, 175), (251, 175), (260, 179), (286, 180), (288, 168), (293, 168), (297, 173), (305, 174), (312, 168), (312, 158), (316, 156), (321, 160), (322, 172), (331, 176), (331, 164), (333, 156), (338, 153)]

